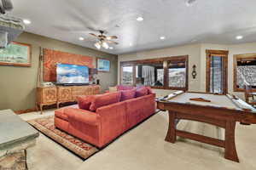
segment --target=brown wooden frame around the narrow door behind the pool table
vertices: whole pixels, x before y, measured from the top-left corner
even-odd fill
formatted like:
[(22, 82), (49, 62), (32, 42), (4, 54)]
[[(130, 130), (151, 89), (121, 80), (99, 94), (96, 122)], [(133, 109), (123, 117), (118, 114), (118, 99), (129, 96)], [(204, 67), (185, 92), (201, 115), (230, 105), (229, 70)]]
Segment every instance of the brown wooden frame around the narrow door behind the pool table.
[(222, 79), (223, 86), (224, 86), (224, 93), (228, 93), (228, 56), (229, 56), (229, 51), (226, 50), (212, 50), (212, 49), (207, 49), (206, 50), (207, 54), (207, 82), (206, 82), (206, 91), (210, 92), (210, 77), (211, 77), (211, 56), (212, 55), (217, 55), (218, 57), (223, 57), (224, 58), (224, 65), (223, 65), (223, 71), (224, 71), (224, 77)]

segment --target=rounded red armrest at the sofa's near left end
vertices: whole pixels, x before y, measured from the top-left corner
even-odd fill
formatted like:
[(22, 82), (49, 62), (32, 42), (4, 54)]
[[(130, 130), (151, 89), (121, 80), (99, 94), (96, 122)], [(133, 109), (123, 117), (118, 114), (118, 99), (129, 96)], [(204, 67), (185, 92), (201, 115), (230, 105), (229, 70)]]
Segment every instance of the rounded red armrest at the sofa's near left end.
[(67, 108), (64, 112), (68, 116), (68, 119), (72, 121), (82, 122), (92, 126), (99, 124), (99, 116), (95, 112), (74, 108)]

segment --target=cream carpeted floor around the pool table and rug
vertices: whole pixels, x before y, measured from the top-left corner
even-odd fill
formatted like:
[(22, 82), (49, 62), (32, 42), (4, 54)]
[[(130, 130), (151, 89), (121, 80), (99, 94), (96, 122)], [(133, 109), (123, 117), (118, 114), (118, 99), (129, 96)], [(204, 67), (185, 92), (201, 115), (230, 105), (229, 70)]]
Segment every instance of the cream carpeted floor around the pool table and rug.
[[(24, 120), (53, 115), (33, 112), (20, 115)], [(150, 117), (138, 127), (115, 140), (107, 148), (81, 161), (70, 151), (40, 134), (34, 157), (35, 170), (254, 170), (256, 169), (256, 125), (236, 125), (236, 148), (240, 163), (224, 159), (224, 150), (189, 139), (177, 139), (176, 144), (164, 139), (168, 127), (166, 112)], [(224, 130), (200, 122), (182, 121), (179, 129), (213, 138), (224, 138)]]

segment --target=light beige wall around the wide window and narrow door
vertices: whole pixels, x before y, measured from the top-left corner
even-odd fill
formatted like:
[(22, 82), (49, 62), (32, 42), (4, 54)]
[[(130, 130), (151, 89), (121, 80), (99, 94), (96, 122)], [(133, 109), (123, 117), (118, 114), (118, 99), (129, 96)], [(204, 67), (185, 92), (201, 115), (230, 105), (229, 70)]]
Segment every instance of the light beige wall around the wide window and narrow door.
[[(206, 49), (229, 50), (228, 65), (228, 91), (230, 94), (236, 94), (241, 99), (244, 98), (243, 93), (233, 91), (233, 55), (234, 54), (252, 54), (256, 53), (256, 42), (242, 43), (236, 45), (198, 43), (173, 48), (162, 48), (157, 50), (148, 50), (133, 54), (120, 54), (120, 61), (129, 61), (136, 59), (153, 59), (160, 57), (169, 57), (177, 55), (189, 55), (189, 90), (190, 91), (206, 91)], [(192, 66), (196, 65), (197, 77), (193, 79), (191, 76)], [(118, 78), (119, 80), (119, 78)], [(157, 96), (163, 96), (171, 93), (171, 90), (154, 89)]]

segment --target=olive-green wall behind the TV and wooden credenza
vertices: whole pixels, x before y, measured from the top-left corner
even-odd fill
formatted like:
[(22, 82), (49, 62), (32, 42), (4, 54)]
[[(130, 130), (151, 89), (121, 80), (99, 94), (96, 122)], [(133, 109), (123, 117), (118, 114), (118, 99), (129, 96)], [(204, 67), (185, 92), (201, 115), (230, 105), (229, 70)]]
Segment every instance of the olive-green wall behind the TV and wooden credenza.
[(5, 66), (0, 65), (0, 110), (26, 110), (35, 107), (35, 97), (38, 76), (39, 47), (61, 50), (73, 54), (83, 54), (94, 58), (108, 58), (111, 60), (111, 71), (99, 73), (102, 89), (114, 86), (117, 83), (117, 56), (106, 54), (94, 49), (84, 48), (67, 42), (61, 42), (48, 37), (41, 37), (31, 33), (22, 33), (16, 42), (32, 44), (32, 66)]

